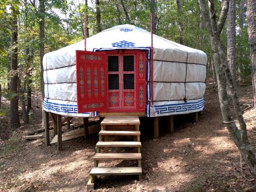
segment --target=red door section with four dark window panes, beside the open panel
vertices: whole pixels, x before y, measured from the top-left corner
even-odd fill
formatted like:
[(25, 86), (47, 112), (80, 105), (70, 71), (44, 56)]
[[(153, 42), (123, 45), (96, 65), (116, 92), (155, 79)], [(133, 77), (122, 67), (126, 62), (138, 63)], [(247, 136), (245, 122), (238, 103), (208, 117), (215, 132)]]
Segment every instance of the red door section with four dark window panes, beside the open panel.
[(108, 112), (143, 112), (146, 102), (146, 53), (107, 53)]

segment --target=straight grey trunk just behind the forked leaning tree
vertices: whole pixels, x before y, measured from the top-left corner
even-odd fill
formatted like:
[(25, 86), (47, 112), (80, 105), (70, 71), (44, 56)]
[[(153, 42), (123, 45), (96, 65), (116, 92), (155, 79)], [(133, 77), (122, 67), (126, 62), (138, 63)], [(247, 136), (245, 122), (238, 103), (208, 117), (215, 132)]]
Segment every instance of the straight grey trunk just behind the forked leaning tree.
[(235, 55), (236, 55), (236, 2), (229, 0), (228, 9), (228, 22), (227, 22), (227, 57), (228, 67), (233, 78), (234, 88), (236, 89), (236, 68), (235, 68)]

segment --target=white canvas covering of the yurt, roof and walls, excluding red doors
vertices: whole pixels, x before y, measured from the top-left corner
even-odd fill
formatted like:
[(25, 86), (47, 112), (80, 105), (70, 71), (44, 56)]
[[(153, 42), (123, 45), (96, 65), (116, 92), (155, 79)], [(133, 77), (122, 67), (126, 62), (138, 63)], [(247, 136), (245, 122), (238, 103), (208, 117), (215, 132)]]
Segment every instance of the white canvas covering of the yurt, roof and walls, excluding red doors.
[[(153, 36), (153, 43), (153, 67), (150, 63), (151, 34), (132, 25), (116, 26), (87, 38), (86, 50), (147, 51), (146, 116), (186, 114), (203, 110), (206, 54), (157, 35)], [(97, 116), (97, 111), (77, 114), (76, 50), (84, 50), (84, 41), (44, 55), (43, 108), (60, 115)]]

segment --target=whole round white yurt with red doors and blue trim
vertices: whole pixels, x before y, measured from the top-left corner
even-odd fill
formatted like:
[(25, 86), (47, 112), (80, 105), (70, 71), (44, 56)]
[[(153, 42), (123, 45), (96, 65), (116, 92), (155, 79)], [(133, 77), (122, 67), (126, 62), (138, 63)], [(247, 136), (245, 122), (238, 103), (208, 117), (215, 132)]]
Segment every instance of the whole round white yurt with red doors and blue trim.
[(157, 117), (204, 108), (207, 57), (132, 25), (44, 55), (43, 109), (70, 117)]

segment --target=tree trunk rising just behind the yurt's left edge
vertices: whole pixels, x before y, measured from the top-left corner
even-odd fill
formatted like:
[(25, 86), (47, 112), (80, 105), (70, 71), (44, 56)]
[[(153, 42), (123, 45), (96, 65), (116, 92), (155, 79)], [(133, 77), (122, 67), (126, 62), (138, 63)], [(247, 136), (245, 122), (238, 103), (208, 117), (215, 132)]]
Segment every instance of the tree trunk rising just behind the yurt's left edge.
[(45, 20), (45, 0), (39, 0), (39, 41), (40, 41), (40, 67), (41, 67), (41, 93), (42, 100), (44, 100), (44, 68), (43, 68), (43, 57), (44, 57), (44, 20)]

